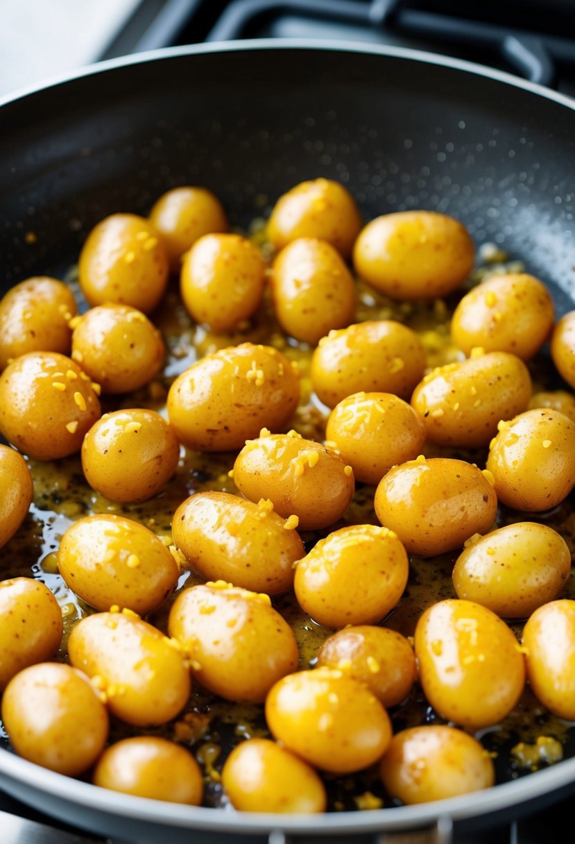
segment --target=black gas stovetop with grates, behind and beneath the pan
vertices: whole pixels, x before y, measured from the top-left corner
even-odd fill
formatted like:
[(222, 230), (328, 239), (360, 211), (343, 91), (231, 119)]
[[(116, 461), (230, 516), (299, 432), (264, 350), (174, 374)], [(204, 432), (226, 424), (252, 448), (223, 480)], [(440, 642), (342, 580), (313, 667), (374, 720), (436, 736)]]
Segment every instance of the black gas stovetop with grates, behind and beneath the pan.
[[(465, 58), (575, 97), (573, 0), (140, 0), (132, 6), (131, 14), (119, 16), (116, 31), (106, 32), (94, 58), (202, 41), (336, 39)], [(0, 811), (56, 827), (62, 836), (66, 830), (82, 841), (110, 842), (59, 825), (2, 793)], [(487, 832), (455, 834), (454, 844), (568, 841), (565, 830), (571, 828), (572, 800), (567, 799)], [(29, 844), (14, 837), (17, 833), (7, 835), (0, 824), (2, 844)], [(40, 837), (35, 841), (43, 844)]]

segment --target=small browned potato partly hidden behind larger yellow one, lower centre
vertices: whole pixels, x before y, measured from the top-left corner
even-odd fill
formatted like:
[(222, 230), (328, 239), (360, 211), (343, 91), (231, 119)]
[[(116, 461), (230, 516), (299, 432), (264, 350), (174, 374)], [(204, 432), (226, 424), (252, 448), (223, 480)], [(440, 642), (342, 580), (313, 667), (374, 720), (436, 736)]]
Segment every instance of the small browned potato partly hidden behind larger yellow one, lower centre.
[(409, 641), (389, 627), (348, 626), (329, 636), (318, 666), (339, 668), (368, 686), (385, 707), (405, 701), (417, 679), (416, 657)]

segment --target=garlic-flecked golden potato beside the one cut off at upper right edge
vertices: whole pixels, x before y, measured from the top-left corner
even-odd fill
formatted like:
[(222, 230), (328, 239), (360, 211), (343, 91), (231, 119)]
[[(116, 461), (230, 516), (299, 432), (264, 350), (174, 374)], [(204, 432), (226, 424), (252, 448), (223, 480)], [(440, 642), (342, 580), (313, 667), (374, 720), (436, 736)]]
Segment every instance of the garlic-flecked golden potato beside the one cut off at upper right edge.
[(465, 354), (481, 346), (530, 360), (549, 337), (553, 318), (551, 293), (539, 279), (526, 273), (492, 275), (455, 308), (451, 337)]

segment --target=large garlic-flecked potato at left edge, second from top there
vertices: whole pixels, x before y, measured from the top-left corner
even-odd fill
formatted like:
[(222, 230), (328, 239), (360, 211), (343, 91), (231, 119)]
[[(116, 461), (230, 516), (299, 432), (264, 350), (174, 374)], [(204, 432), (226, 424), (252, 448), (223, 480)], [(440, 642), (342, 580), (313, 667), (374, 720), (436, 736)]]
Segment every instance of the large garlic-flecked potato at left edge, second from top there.
[(64, 354), (23, 354), (0, 376), (0, 433), (35, 460), (78, 452), (99, 415), (89, 376)]

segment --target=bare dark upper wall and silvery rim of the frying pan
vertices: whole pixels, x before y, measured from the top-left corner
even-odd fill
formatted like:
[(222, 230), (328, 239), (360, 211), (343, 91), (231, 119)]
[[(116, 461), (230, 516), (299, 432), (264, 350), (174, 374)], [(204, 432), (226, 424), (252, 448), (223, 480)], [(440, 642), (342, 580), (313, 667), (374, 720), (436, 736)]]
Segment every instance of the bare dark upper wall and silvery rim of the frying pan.
[[(505, 73), (422, 52), (244, 41), (106, 62), (0, 105), (0, 279), (62, 274), (106, 214), (145, 214), (202, 184), (247, 225), (298, 181), (342, 181), (363, 214), (452, 214), (575, 300), (575, 105)], [(575, 792), (575, 759), (436, 803), (310, 818), (235, 814), (107, 792), (0, 750), (0, 787), (68, 823), (140, 842), (325, 836), (388, 841), (477, 830)], [(344, 836), (341, 838), (341, 836)]]

